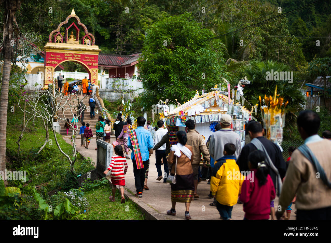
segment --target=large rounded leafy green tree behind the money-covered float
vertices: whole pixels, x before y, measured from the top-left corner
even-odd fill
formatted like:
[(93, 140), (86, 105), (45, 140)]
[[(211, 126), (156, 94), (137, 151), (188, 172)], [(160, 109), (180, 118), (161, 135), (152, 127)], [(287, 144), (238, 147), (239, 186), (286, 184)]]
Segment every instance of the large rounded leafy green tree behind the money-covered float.
[(159, 99), (183, 103), (202, 90), (208, 91), (224, 77), (224, 45), (220, 40), (203, 41), (214, 34), (190, 14), (171, 16), (147, 30), (139, 76), (145, 92), (144, 105)]

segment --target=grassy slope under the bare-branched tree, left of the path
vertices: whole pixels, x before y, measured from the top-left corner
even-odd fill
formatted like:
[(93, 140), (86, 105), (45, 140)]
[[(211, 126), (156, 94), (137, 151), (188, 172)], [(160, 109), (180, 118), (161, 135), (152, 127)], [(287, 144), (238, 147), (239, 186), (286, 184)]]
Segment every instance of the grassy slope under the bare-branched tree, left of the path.
[[(21, 151), (18, 155), (18, 144), (16, 143), (23, 129), (23, 112), (19, 108), (14, 113), (8, 112), (7, 118), (7, 141), (6, 141), (6, 168), (7, 170), (26, 171), (27, 181), (9, 180), (8, 186), (20, 187), (22, 193), (31, 195), (32, 189), (43, 189), (47, 191), (56, 188), (66, 187), (70, 189), (68, 182), (70, 164), (67, 158), (59, 151), (52, 130), (49, 130), (50, 142), (37, 155), (37, 151), (45, 142), (45, 129), (42, 121), (36, 118), (33, 126), (32, 119), (24, 132), (20, 142)], [(60, 134), (56, 134), (58, 142), (63, 151), (71, 154), (72, 146), (62, 139)], [(36, 157), (35, 157), (36, 156)], [(77, 175), (85, 174), (94, 168), (90, 161), (85, 160), (80, 154), (74, 164)], [(69, 188), (70, 187), (70, 188)]]

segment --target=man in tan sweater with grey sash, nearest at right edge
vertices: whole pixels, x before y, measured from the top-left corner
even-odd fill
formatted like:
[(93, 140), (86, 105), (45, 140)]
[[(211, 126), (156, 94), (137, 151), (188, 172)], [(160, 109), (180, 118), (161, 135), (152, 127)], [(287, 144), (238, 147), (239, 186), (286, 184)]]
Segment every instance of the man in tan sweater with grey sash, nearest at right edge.
[(301, 138), (323, 168), (328, 182), (322, 180), (322, 170), (316, 170), (300, 147), (296, 149), (285, 175), (276, 217), (283, 219), (286, 208), (297, 194), (297, 220), (331, 220), (331, 186), (327, 185), (331, 182), (331, 141), (317, 135), (320, 125), (317, 113), (301, 111), (297, 124)]

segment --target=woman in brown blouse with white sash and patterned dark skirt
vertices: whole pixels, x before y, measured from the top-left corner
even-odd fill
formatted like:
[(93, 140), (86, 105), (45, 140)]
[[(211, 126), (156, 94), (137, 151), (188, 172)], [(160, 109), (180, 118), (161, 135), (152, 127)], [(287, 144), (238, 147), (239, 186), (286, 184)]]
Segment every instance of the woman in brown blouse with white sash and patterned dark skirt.
[(191, 219), (189, 208), (194, 194), (193, 183), (193, 151), (192, 146), (185, 145), (187, 142), (186, 133), (184, 131), (178, 131), (176, 133), (178, 143), (172, 145), (169, 156), (168, 165), (171, 166), (171, 175), (175, 174), (176, 159), (176, 184), (171, 183), (171, 209), (167, 211), (168, 215), (176, 215), (176, 202), (185, 203), (185, 218)]

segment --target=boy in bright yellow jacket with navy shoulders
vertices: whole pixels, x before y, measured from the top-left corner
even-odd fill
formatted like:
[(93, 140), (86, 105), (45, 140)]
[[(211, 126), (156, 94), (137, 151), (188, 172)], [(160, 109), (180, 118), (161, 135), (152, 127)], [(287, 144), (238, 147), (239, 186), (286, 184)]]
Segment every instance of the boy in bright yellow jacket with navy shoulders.
[(233, 205), (237, 203), (245, 179), (233, 156), (235, 151), (236, 145), (233, 143), (224, 144), (224, 156), (216, 160), (210, 182), (210, 190), (216, 198), (216, 208), (222, 220), (231, 220)]

